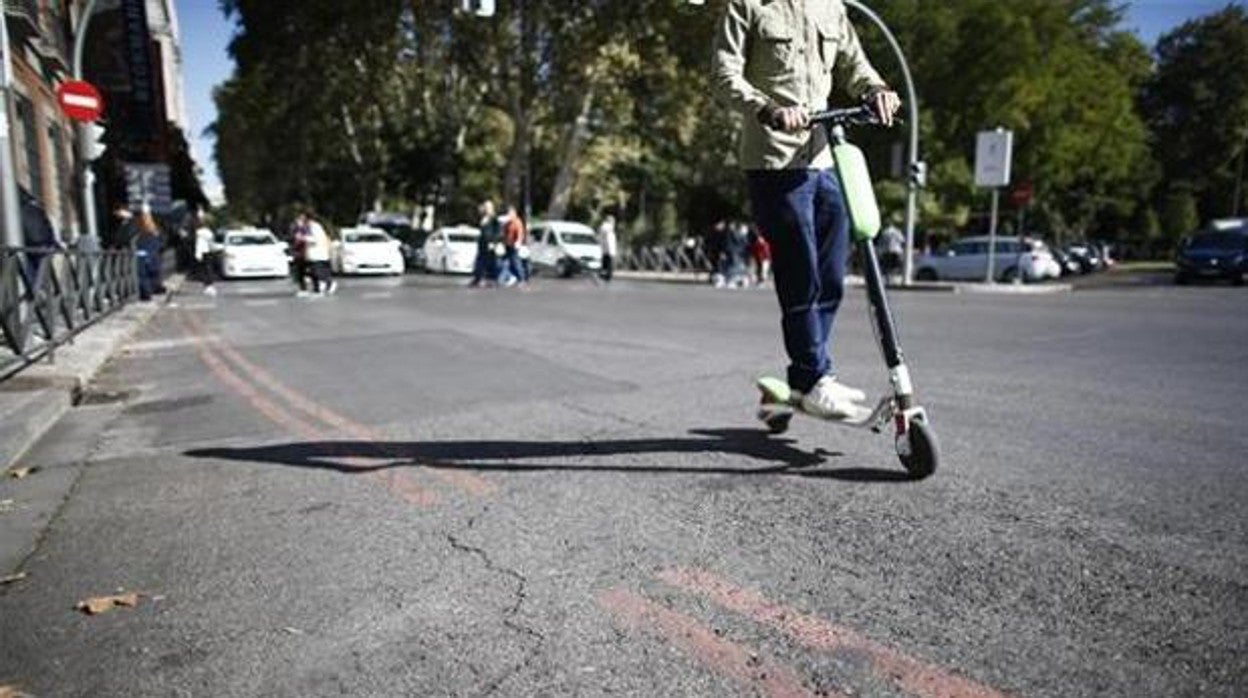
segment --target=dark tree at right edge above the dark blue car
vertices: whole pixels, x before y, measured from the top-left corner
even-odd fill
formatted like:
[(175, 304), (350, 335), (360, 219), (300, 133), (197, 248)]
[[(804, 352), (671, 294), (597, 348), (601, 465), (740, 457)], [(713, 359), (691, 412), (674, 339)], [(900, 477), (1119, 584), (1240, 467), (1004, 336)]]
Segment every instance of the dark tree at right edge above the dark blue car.
[(1184, 24), (1161, 39), (1157, 61), (1142, 105), (1166, 181), (1189, 186), (1203, 219), (1229, 216), (1248, 149), (1248, 10)]

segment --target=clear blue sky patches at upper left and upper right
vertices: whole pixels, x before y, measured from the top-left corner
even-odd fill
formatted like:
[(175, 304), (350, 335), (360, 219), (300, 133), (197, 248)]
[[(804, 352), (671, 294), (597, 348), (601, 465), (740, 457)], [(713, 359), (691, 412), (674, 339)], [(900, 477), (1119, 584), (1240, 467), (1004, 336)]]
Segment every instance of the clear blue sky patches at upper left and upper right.
[[(619, 0), (626, 2), (628, 0)], [(940, 0), (931, 0), (940, 1)], [(1008, 0), (1003, 0), (1008, 1)], [(1152, 46), (1157, 39), (1184, 21), (1216, 12), (1228, 4), (1248, 0), (1128, 0), (1127, 29)], [(212, 139), (203, 130), (216, 119), (212, 89), (233, 72), (227, 52), (235, 27), (221, 15), (217, 0), (177, 0), (182, 35), (182, 70), (186, 82), (186, 107), (191, 119), (191, 144), (195, 161), (203, 169), (203, 185), (210, 199), (217, 200), (221, 180), (212, 160)]]

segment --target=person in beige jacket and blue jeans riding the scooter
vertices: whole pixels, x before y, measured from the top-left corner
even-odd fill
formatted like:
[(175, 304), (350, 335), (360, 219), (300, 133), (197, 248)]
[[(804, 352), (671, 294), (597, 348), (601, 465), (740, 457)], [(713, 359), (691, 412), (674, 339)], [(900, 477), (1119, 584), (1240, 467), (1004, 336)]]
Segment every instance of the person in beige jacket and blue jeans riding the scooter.
[(714, 40), (716, 95), (744, 115), (740, 161), (755, 224), (768, 232), (787, 380), (810, 413), (861, 411), (829, 355), (844, 295), (849, 216), (822, 129), (809, 129), (836, 80), (886, 124), (901, 105), (871, 66), (842, 0), (728, 0)]

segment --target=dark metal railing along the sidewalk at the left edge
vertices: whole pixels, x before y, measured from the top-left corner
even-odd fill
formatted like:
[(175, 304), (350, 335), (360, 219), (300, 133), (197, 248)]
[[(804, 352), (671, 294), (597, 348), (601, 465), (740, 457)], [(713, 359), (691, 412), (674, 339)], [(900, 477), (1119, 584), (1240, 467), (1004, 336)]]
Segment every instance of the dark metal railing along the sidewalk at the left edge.
[(0, 247), (0, 378), (139, 293), (132, 251)]

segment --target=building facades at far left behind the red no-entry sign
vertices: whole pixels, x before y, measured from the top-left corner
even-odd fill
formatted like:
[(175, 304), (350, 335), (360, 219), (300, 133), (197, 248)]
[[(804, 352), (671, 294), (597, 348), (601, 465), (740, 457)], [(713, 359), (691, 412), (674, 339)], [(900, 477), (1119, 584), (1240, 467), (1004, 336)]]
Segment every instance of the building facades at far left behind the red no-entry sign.
[[(74, 29), (87, 0), (0, 0), (14, 74), (10, 100), (19, 186), (34, 196), (66, 242), (85, 230), (76, 124), (61, 114), (56, 86), (72, 77)], [(190, 127), (173, 0), (96, 0), (84, 51), (84, 79), (104, 95), (102, 155), (95, 160), (97, 220), (134, 206), (127, 171), (171, 172), (160, 191), (165, 209), (181, 195), (192, 206), (202, 194), (186, 152)], [(99, 155), (99, 154), (97, 154)], [(176, 191), (171, 191), (176, 190)]]

